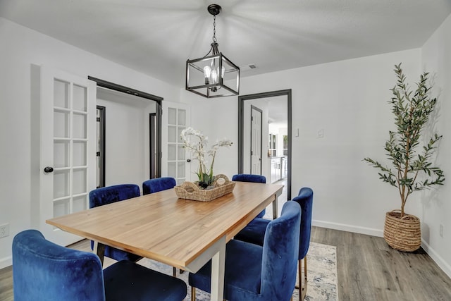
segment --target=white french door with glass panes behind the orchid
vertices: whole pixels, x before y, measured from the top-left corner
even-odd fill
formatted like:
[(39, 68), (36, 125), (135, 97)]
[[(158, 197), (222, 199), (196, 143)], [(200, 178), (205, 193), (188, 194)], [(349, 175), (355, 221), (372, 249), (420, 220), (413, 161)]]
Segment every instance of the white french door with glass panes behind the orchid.
[(190, 153), (183, 147), (180, 133), (190, 126), (190, 106), (161, 102), (161, 176), (175, 178), (177, 185), (191, 179)]

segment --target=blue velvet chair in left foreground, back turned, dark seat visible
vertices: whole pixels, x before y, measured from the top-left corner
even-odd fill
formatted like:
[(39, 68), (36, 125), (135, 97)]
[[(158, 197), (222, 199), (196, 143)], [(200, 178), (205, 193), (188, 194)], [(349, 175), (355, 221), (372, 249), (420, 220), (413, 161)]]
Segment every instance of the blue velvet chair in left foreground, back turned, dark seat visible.
[(183, 300), (185, 282), (128, 260), (102, 271), (96, 254), (61, 247), (27, 230), (13, 239), (16, 301)]

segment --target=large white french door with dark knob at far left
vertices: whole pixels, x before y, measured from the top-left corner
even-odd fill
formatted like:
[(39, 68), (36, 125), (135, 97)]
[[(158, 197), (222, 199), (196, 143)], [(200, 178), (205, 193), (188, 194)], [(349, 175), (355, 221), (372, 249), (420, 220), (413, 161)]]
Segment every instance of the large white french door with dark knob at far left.
[(96, 83), (41, 68), (39, 228), (59, 245), (81, 238), (45, 223), (89, 207), (96, 185)]

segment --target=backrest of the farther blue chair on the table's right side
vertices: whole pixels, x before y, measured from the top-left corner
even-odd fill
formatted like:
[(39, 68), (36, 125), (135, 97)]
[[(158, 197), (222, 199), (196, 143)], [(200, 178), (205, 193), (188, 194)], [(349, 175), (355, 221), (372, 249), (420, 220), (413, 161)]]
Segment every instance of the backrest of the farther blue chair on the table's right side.
[(301, 229), (299, 232), (299, 260), (309, 251), (311, 233), (311, 211), (313, 209), (313, 190), (301, 188), (297, 197), (292, 199), (301, 206)]

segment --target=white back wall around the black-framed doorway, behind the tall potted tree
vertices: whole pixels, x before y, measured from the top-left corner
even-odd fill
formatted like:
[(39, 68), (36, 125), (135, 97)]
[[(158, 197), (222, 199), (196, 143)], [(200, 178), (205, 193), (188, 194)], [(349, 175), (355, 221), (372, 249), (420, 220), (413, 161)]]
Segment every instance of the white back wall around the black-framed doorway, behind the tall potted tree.
[[(299, 128), (299, 137), (291, 137), (292, 195), (302, 186), (314, 189), (316, 225), (382, 235), (385, 212), (400, 206), (399, 197), (362, 159), (385, 158), (383, 145), (393, 123), (387, 102), (394, 64), (402, 62), (407, 75), (416, 76), (420, 59), (420, 49), (413, 49), (242, 78), (241, 95), (292, 89), (293, 133)], [(192, 125), (206, 135), (237, 141), (237, 97), (190, 94), (183, 91), (180, 99), (192, 105)], [(213, 124), (203, 122), (205, 111)], [(319, 129), (323, 138), (316, 137)], [(222, 173), (236, 173), (234, 152), (218, 155)]]

